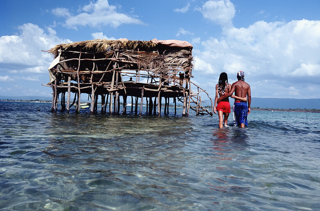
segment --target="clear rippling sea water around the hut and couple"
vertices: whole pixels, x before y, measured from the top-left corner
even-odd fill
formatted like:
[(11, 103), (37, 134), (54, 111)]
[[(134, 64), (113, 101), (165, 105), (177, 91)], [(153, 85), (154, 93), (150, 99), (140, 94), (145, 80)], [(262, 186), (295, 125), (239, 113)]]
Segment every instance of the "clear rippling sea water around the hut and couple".
[(0, 102), (1, 210), (319, 210), (319, 113), (50, 109)]

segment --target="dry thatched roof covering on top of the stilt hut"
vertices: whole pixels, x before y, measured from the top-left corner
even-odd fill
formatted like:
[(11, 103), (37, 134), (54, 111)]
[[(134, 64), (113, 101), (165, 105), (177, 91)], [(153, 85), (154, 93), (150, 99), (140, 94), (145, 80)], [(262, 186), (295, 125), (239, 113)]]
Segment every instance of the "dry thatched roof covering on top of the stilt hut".
[[(186, 43), (186, 41), (180, 41), (180, 42)], [(96, 39), (96, 40), (87, 40), (87, 41), (59, 44), (54, 46), (52, 49), (50, 49), (49, 53), (51, 53), (56, 58), (59, 55), (58, 50), (60, 48), (62, 50), (76, 50), (76, 51), (83, 50), (87, 52), (107, 51), (110, 49), (124, 49), (124, 50), (140, 49), (140, 51), (141, 50), (154, 51), (156, 50), (156, 47), (159, 45), (165, 48), (166, 44), (162, 44), (160, 42), (159, 44), (156, 44), (154, 41), (140, 41), (140, 40), (127, 40), (127, 39), (120, 39), (120, 40)], [(166, 45), (166, 47), (172, 48), (172, 47), (168, 47), (168, 45)], [(179, 47), (175, 46), (173, 48), (178, 49)], [(183, 49), (189, 49), (191, 51), (192, 45), (190, 44), (188, 48), (183, 48)]]

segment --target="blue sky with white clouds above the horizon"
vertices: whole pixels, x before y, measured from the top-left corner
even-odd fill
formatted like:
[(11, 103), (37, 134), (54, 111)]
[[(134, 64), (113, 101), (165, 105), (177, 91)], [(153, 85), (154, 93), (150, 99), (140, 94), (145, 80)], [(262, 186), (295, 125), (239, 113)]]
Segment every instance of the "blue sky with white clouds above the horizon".
[(320, 98), (320, 1), (0, 1), (0, 95), (51, 96), (49, 50), (92, 40), (186, 40), (214, 97), (242, 70), (252, 97)]

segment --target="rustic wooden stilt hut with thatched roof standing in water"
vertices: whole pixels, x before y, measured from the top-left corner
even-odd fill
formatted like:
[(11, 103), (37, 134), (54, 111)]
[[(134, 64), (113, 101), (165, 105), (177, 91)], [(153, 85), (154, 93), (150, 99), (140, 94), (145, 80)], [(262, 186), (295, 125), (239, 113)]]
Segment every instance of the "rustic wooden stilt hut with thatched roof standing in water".
[[(136, 114), (140, 102), (140, 115), (143, 99), (147, 102), (147, 114), (160, 115), (164, 98), (164, 114), (169, 112), (172, 99), (175, 106), (177, 101), (183, 103), (182, 116), (188, 117), (190, 109), (196, 115), (212, 116), (212, 99), (191, 81), (192, 48), (187, 41), (156, 39), (97, 39), (56, 45), (49, 50), (54, 60), (48, 68), (50, 83), (44, 85), (53, 91), (51, 110), (56, 112), (60, 95), (61, 110), (68, 113), (71, 93), (75, 93), (71, 106), (76, 103), (77, 112), (80, 111), (81, 94), (88, 94), (92, 114), (97, 112), (100, 95), (102, 113), (118, 114), (122, 96), (125, 114), (127, 97), (131, 96)], [(196, 93), (191, 91), (191, 84), (197, 87)], [(200, 92), (208, 95), (211, 109), (201, 106)]]

